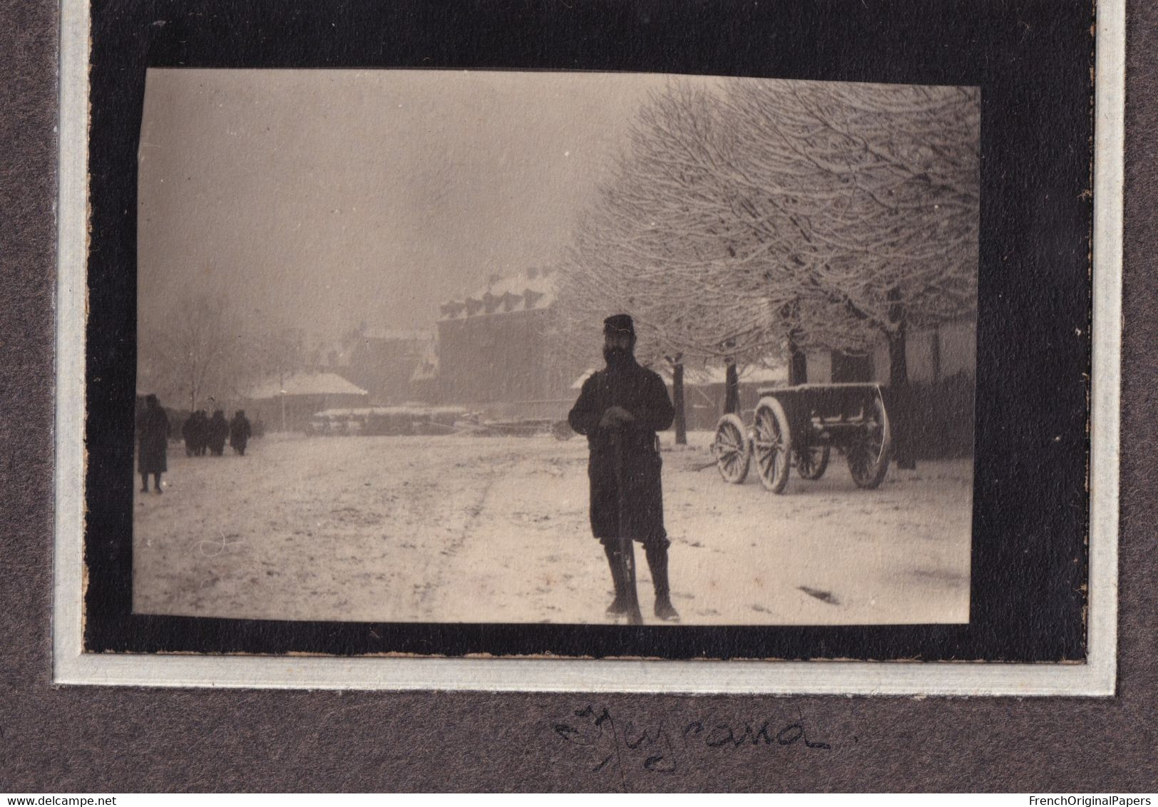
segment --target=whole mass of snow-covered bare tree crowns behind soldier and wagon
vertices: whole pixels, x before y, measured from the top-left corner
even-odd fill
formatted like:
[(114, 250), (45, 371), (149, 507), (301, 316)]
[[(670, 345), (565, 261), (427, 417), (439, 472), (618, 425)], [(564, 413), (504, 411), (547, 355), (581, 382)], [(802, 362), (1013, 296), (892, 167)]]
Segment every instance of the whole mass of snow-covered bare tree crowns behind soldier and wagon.
[(979, 127), (970, 88), (674, 82), (580, 226), (560, 302), (628, 310), (644, 354), (730, 364), (884, 336), (903, 388), (907, 329), (975, 311)]

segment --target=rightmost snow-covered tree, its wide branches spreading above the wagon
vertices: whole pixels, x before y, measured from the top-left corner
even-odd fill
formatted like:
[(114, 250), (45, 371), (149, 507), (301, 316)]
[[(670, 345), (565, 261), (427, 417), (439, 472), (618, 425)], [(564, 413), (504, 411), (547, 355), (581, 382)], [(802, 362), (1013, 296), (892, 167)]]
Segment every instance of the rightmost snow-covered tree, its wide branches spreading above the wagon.
[(723, 104), (739, 222), (798, 267), (808, 305), (888, 339), (894, 386), (907, 327), (976, 310), (979, 102), (963, 87), (741, 81)]

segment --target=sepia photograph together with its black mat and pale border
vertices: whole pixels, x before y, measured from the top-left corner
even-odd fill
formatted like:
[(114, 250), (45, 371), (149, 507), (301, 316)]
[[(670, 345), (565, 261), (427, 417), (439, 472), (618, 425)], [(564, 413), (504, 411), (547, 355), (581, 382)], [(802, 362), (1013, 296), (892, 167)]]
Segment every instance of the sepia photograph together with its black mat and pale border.
[(1092, 6), (190, 2), (61, 35), (54, 681), (1113, 691)]

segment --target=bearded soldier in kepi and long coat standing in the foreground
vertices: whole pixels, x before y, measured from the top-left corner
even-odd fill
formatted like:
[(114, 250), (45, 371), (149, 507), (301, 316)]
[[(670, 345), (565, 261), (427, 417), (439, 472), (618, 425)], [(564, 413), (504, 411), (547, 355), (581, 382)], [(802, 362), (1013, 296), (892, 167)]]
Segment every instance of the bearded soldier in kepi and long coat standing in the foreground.
[(591, 456), (591, 527), (603, 544), (615, 600), (608, 614), (625, 614), (632, 604), (630, 541), (639, 541), (655, 586), (655, 616), (677, 619), (667, 577), (661, 458), (655, 432), (672, 426), (674, 410), (664, 380), (636, 362), (631, 317), (603, 321), (604, 369), (593, 373), (571, 410), (571, 428), (587, 435)]

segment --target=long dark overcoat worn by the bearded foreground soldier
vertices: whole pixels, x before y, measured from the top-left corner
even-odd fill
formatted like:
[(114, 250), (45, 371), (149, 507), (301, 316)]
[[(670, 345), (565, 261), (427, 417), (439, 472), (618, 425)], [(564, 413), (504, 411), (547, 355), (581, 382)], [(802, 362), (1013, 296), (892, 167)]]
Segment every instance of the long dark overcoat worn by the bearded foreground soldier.
[[(599, 421), (610, 406), (622, 406), (635, 420), (618, 428), (601, 428)], [(591, 528), (596, 538), (620, 537), (622, 529), (625, 536), (644, 543), (666, 541), (662, 461), (655, 432), (669, 428), (673, 417), (664, 380), (633, 358), (593, 373), (584, 382), (567, 420), (571, 428), (587, 435), (591, 448), (587, 476)]]

